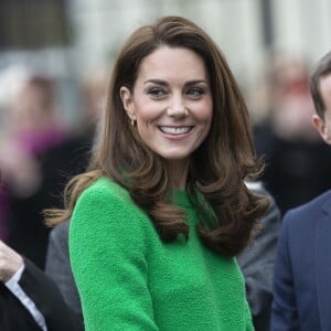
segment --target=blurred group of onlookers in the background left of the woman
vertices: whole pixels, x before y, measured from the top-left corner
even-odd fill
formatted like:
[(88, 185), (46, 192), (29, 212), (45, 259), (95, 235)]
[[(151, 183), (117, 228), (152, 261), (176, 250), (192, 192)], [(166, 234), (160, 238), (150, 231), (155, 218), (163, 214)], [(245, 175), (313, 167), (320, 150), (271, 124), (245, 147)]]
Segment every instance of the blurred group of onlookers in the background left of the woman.
[(86, 168), (106, 73), (82, 78), (83, 106), (75, 125), (58, 108), (54, 78), (12, 73), (15, 88), (0, 103), (0, 239), (44, 268), (50, 227), (43, 210), (61, 206), (65, 183)]

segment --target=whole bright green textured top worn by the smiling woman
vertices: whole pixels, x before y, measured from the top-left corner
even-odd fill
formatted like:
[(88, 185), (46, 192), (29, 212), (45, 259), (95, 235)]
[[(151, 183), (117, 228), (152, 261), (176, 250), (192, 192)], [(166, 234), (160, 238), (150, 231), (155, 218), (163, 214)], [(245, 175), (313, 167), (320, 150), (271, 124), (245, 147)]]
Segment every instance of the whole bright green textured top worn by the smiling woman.
[(236, 260), (201, 244), (185, 192), (177, 204), (190, 238), (164, 244), (118, 184), (99, 179), (81, 195), (70, 254), (86, 331), (253, 330)]

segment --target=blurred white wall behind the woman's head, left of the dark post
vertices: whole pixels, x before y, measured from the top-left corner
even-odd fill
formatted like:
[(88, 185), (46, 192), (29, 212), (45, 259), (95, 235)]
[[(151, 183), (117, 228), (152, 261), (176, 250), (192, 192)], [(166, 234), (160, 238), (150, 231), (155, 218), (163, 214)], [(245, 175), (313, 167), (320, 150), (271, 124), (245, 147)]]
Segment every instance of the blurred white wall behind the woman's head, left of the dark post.
[(258, 0), (72, 0), (76, 64), (93, 68), (111, 60), (136, 28), (157, 17), (194, 20), (217, 42), (233, 71), (249, 81), (264, 58)]

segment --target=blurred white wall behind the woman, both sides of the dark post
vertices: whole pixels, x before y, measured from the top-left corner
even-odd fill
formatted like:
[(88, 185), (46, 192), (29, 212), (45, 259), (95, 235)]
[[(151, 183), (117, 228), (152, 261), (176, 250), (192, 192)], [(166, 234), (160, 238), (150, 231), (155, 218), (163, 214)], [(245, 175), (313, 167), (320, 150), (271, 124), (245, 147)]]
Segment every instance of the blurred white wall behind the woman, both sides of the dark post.
[[(128, 34), (164, 14), (194, 20), (218, 43), (248, 84), (265, 58), (260, 0), (71, 0), (77, 66), (111, 60)], [(331, 49), (330, 0), (271, 0), (275, 49), (314, 62)], [(77, 68), (79, 71), (79, 68)]]

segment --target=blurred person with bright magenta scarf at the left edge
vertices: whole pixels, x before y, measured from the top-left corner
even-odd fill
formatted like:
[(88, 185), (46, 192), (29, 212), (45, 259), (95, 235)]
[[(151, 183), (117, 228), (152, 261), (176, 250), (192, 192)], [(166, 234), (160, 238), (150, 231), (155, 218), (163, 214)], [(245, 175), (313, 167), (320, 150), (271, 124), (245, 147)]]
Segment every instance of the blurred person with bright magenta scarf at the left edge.
[(40, 267), (44, 265), (49, 235), (41, 214), (50, 199), (43, 158), (67, 136), (56, 109), (53, 84), (43, 75), (26, 78), (7, 109), (11, 120), (0, 142), (6, 241)]

